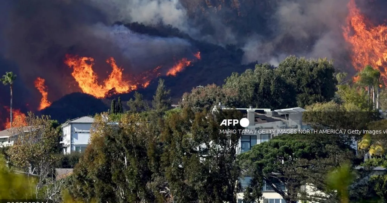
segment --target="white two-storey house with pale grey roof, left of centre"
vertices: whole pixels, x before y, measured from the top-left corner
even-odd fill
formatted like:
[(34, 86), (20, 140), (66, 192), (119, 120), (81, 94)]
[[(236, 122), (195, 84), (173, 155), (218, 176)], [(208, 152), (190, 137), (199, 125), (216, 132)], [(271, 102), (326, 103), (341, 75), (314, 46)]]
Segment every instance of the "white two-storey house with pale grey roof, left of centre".
[(83, 152), (86, 149), (92, 123), (94, 123), (94, 118), (84, 116), (61, 125), (63, 134), (60, 143), (63, 147), (63, 154)]

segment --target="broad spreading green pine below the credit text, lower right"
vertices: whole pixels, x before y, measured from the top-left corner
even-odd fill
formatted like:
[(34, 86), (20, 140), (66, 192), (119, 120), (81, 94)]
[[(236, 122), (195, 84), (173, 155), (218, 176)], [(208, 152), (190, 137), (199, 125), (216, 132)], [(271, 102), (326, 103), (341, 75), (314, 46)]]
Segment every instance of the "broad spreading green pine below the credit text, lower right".
[[(332, 202), (335, 193), (313, 196), (301, 191), (301, 186), (309, 185), (313, 191), (327, 191), (327, 183), (322, 181), (324, 176), (354, 157), (349, 143), (343, 140), (338, 135), (292, 134), (255, 145), (238, 157), (244, 175), (252, 177), (245, 194), (260, 190), (266, 182), (287, 203), (298, 200)], [(250, 198), (247, 201), (258, 200), (260, 193), (255, 194), (247, 194)]]

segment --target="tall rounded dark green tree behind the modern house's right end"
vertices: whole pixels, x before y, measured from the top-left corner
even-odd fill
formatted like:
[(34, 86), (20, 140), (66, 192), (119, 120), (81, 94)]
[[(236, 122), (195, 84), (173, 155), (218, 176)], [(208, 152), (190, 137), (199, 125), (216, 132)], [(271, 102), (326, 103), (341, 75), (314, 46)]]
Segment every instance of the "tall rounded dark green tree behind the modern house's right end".
[(333, 61), (326, 58), (307, 60), (289, 56), (275, 69), (277, 74), (296, 90), (297, 105), (304, 107), (315, 102), (327, 102), (334, 97), (337, 79)]

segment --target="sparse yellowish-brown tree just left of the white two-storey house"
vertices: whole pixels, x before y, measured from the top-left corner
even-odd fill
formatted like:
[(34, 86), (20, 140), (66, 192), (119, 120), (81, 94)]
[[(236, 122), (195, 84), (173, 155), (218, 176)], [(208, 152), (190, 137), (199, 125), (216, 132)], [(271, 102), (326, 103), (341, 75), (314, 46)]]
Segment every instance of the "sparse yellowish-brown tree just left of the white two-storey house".
[(10, 160), (30, 174), (37, 174), (36, 194), (53, 175), (60, 153), (59, 128), (50, 116), (35, 116), (29, 112), (27, 126), (16, 130), (17, 140), (10, 148)]

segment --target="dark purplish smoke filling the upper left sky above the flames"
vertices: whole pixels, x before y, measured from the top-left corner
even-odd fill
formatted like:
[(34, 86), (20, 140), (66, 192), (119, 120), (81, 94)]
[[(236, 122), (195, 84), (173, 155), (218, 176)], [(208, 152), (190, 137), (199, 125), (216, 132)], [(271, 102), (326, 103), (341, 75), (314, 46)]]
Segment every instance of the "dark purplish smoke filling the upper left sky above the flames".
[[(119, 18), (103, 6), (83, 0), (0, 1), (1, 58), (15, 64), (2, 65), (0, 72), (17, 73), (15, 85), (23, 92), (15, 92), (17, 100), (27, 97), (37, 106), (41, 95), (33, 85), (36, 77), (46, 80), (50, 101), (79, 91), (72, 70), (63, 63), (67, 53), (94, 58), (94, 70), (103, 80), (111, 71), (105, 62), (111, 56), (126, 73), (136, 74), (180, 57), (191, 46), (183, 39), (135, 34), (114, 26)], [(8, 97), (0, 90), (3, 98)], [(2, 103), (7, 102), (3, 98)]]

